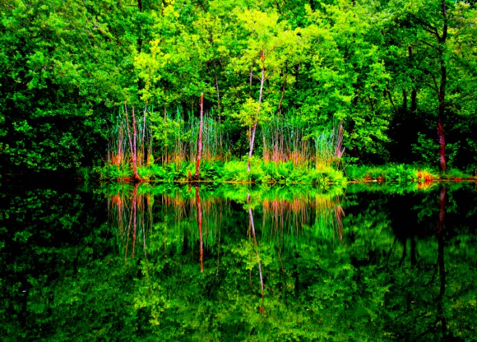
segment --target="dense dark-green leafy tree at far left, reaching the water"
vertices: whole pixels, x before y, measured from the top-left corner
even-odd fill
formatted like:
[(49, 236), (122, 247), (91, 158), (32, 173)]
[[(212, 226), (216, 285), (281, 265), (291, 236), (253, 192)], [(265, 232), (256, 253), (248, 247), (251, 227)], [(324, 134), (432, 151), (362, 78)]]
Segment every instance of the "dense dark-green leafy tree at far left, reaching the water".
[(125, 8), (114, 1), (0, 5), (1, 164), (9, 172), (97, 163), (105, 111), (133, 82)]

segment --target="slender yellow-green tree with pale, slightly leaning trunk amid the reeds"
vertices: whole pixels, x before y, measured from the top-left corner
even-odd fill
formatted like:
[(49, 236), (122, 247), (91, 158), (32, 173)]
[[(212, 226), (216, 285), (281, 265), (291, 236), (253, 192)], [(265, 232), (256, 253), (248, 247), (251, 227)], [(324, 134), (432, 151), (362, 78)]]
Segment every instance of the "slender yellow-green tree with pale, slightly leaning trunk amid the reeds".
[[(244, 84), (242, 81), (242, 96), (237, 96), (237, 102), (242, 103), (240, 111), (233, 112), (232, 116), (248, 127), (248, 163), (253, 154), (257, 125), (270, 120), (273, 111), (279, 111), (285, 84), (293, 83), (294, 79), (288, 75), (287, 64), (293, 65), (296, 61), (300, 29), (292, 30), (286, 21), (279, 21), (274, 12), (257, 10), (237, 11), (237, 26), (242, 38), (243, 48), (240, 53), (231, 59), (230, 68), (243, 79), (248, 79), (248, 98), (244, 101)], [(255, 86), (254, 80), (258, 85)], [(267, 88), (265, 88), (267, 86)], [(270, 94), (270, 99), (266, 95)], [(275, 101), (273, 101), (273, 95)], [(281, 97), (276, 101), (276, 96)], [(254, 99), (255, 97), (255, 99)], [(265, 99), (266, 98), (266, 99)], [(276, 106), (276, 107), (275, 107)]]

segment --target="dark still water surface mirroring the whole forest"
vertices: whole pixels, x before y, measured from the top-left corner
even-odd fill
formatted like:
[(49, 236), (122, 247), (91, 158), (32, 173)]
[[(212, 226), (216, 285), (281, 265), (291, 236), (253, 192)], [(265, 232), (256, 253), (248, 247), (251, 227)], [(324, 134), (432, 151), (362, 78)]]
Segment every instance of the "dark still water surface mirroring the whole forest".
[(472, 341), (476, 222), (475, 183), (7, 183), (0, 336)]

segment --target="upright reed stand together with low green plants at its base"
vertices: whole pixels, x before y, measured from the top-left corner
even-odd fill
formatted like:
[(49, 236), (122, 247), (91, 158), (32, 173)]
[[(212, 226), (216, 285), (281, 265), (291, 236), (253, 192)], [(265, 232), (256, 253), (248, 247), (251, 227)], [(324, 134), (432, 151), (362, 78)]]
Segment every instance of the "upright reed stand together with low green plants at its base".
[[(130, 117), (125, 105), (115, 118), (108, 146), (107, 165), (116, 170), (107, 167), (106, 178), (127, 181), (132, 167), (133, 181), (191, 181), (197, 179), (192, 175), (198, 175), (193, 168), (198, 158), (201, 179), (209, 181), (325, 184), (343, 178), (335, 172), (344, 153), (342, 124), (313, 129), (294, 111), (280, 114), (261, 127), (263, 158), (242, 161), (232, 157), (236, 142), (224, 134), (224, 124), (227, 121), (212, 110), (205, 111), (202, 120), (190, 113), (184, 116), (180, 109), (158, 116), (148, 107)], [(250, 164), (253, 170), (244, 172)]]

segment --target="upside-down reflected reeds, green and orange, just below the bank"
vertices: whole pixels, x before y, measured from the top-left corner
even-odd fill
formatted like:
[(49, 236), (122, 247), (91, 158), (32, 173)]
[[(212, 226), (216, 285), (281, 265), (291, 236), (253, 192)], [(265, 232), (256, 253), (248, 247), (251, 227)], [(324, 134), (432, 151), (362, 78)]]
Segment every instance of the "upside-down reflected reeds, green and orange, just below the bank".
[[(344, 239), (342, 191), (323, 193), (310, 187), (302, 196), (301, 187), (295, 193), (229, 185), (213, 191), (201, 187), (199, 194), (198, 186), (158, 188), (146, 183), (116, 184), (109, 189), (108, 226), (125, 261), (190, 249), (204, 272), (210, 267), (218, 269), (220, 245), (227, 244), (227, 234), (242, 232), (245, 237), (248, 226), (253, 237), (252, 215), (255, 239), (263, 246), (294, 250), (309, 237)], [(244, 205), (242, 214), (237, 203)], [(237, 230), (237, 224), (243, 229)]]

